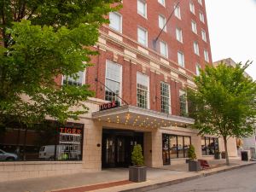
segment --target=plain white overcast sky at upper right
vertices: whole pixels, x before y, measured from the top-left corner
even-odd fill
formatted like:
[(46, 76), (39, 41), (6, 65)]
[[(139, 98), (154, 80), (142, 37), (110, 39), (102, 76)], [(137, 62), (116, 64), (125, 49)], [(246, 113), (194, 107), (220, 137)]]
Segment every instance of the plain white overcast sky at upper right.
[(212, 61), (253, 61), (247, 68), (256, 80), (256, 0), (205, 0)]

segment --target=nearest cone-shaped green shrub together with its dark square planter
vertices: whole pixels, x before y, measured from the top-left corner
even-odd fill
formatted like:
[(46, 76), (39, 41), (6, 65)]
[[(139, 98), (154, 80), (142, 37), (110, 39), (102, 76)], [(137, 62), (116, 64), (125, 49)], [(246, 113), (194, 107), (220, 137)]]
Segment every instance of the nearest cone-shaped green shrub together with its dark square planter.
[(140, 144), (133, 147), (131, 153), (133, 166), (129, 167), (129, 180), (132, 182), (144, 182), (147, 178), (147, 167), (144, 165), (143, 148)]

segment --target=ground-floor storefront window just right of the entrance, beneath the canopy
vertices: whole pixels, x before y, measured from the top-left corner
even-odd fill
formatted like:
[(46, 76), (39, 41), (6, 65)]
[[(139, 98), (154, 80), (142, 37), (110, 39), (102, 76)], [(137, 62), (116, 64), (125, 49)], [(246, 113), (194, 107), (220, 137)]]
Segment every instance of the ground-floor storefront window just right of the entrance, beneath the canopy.
[(170, 165), (170, 159), (188, 157), (191, 137), (163, 134), (163, 163)]

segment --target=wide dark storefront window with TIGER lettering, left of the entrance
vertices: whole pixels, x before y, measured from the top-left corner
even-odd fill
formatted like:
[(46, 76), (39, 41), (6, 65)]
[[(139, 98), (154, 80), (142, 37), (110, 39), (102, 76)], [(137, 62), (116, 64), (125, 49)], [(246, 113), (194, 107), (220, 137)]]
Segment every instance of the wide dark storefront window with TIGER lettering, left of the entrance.
[(82, 160), (84, 125), (13, 125), (0, 136), (0, 160)]

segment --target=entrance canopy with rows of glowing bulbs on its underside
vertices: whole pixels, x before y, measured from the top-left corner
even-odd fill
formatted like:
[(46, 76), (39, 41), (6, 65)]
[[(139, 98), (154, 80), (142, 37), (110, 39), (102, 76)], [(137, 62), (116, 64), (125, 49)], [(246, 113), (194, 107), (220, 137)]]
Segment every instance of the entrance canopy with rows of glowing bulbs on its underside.
[(194, 124), (194, 119), (160, 113), (153, 110), (125, 105), (92, 113), (92, 119), (148, 128), (183, 126)]

